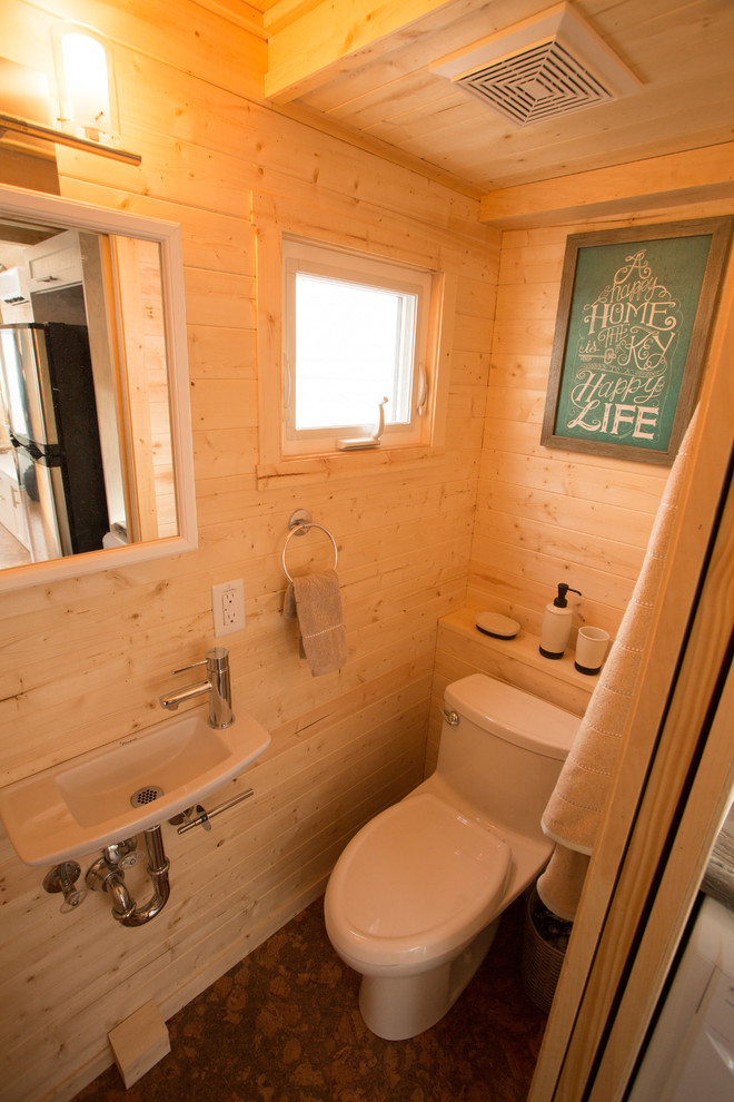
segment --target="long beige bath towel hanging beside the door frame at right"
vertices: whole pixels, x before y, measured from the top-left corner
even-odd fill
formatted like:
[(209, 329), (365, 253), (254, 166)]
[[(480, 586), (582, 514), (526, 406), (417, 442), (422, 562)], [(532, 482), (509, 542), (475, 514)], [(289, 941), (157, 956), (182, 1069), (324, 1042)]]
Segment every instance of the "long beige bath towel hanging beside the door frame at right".
[(656, 602), (661, 597), (661, 580), (696, 421), (694, 415), (671, 469), (645, 561), (619, 632), (543, 814), (543, 829), (556, 843), (556, 849), (537, 883), (537, 892), (545, 906), (561, 918), (572, 919), (576, 913), (588, 855), (594, 848), (616, 769)]

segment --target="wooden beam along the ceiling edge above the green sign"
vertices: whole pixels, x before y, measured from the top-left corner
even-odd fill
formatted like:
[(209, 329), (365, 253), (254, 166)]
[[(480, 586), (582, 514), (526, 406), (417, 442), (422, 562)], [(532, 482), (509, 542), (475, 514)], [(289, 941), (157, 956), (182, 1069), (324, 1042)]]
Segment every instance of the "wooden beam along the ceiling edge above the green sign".
[(559, 225), (734, 196), (734, 141), (500, 188), (479, 220), (499, 229)]

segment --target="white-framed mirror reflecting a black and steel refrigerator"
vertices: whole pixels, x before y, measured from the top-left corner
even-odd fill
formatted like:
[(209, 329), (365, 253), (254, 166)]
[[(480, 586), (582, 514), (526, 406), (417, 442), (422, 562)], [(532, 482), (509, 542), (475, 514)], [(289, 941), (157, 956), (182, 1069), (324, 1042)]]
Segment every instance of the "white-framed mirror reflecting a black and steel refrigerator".
[(0, 590), (196, 548), (180, 229), (0, 187)]

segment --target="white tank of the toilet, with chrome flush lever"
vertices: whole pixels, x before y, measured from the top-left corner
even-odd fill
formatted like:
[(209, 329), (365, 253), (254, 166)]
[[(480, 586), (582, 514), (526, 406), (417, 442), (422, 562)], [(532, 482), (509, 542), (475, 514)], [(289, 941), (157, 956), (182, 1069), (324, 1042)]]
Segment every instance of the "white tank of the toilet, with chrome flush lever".
[(542, 837), (540, 816), (581, 719), (484, 673), (453, 681), (437, 776), (498, 829)]

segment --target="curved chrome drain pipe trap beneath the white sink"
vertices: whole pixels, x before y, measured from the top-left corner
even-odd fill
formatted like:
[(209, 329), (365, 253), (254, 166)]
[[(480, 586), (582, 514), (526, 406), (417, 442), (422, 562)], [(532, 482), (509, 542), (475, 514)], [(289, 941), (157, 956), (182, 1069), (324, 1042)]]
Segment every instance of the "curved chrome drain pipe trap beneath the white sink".
[(170, 863), (163, 850), (160, 826), (148, 827), (145, 833), (148, 852), (148, 876), (153, 886), (151, 898), (138, 906), (125, 883), (125, 856), (135, 849), (135, 839), (108, 846), (102, 856), (87, 872), (87, 887), (93, 892), (108, 892), (112, 896), (112, 916), (123, 926), (143, 926), (160, 914), (170, 895), (168, 869)]

